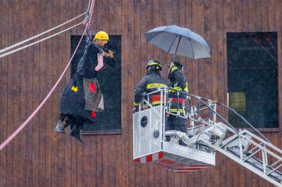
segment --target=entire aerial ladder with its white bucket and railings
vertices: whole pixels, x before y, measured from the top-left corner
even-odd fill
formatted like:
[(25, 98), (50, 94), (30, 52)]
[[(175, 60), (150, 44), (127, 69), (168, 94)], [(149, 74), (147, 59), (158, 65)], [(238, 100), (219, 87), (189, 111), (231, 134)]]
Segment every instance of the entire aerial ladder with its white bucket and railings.
[[(159, 165), (172, 172), (190, 173), (214, 166), (218, 151), (274, 185), (282, 186), (282, 150), (272, 145), (235, 110), (187, 94), (187, 104), (178, 108), (187, 111), (181, 116), (177, 112), (168, 112), (167, 89), (159, 91), (164, 98), (161, 105), (150, 105), (149, 95), (153, 93), (149, 93), (144, 100), (147, 108), (141, 110), (140, 107), (140, 112), (133, 115), (133, 159), (136, 162)], [(257, 135), (247, 129), (237, 131), (216, 112), (216, 107), (221, 106), (235, 112)], [(165, 131), (168, 114), (188, 118), (188, 134)], [(166, 141), (167, 136), (171, 136), (171, 141)], [(178, 145), (180, 139), (187, 144), (186, 147)]]

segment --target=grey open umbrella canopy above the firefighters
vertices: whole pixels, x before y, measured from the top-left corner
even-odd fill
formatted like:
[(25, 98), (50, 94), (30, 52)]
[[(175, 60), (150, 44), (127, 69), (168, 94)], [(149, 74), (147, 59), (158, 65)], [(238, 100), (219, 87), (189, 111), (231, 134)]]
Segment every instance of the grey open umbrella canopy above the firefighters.
[(197, 33), (176, 25), (156, 27), (146, 33), (147, 42), (177, 56), (210, 58), (211, 49)]

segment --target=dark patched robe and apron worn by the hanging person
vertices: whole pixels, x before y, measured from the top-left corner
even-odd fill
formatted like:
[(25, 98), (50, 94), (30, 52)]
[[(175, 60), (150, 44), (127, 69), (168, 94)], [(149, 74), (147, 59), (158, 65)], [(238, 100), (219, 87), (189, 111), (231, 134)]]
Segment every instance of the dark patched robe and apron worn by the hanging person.
[[(103, 98), (97, 79), (95, 79), (97, 75), (95, 67), (98, 63), (97, 53), (102, 52), (103, 49), (98, 44), (91, 42), (86, 46), (85, 53), (78, 63), (77, 71), (62, 93), (60, 100), (61, 114), (93, 120), (94, 112), (102, 111), (97, 108), (100, 101), (103, 102)], [(92, 101), (92, 103), (87, 103), (87, 100)], [(92, 104), (97, 110), (93, 107), (91, 109)]]

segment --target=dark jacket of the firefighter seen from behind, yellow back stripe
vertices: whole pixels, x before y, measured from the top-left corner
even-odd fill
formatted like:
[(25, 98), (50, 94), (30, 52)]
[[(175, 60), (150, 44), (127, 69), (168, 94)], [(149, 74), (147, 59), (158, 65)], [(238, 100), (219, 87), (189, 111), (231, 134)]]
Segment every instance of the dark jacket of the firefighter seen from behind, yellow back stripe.
[[(161, 77), (159, 72), (152, 71), (149, 72), (145, 77), (143, 77), (139, 84), (135, 87), (134, 91), (134, 100), (133, 103), (135, 106), (140, 104), (142, 96), (144, 93), (149, 93), (151, 91), (156, 91), (159, 88), (166, 87), (166, 80)], [(156, 95), (159, 93), (155, 93)], [(157, 104), (157, 103), (152, 103)]]

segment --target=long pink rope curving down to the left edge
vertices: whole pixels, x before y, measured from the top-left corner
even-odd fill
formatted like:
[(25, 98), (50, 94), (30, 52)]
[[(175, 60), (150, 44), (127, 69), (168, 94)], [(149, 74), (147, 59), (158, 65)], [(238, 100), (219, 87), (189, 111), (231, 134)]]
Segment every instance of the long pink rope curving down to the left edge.
[[(93, 2), (93, 1), (92, 1)], [(92, 9), (94, 7), (94, 3), (93, 2), (93, 6)], [(90, 17), (90, 21), (91, 21), (91, 17)], [(73, 56), (75, 56), (76, 51), (78, 50), (78, 46), (80, 46), (80, 42), (82, 41), (82, 38), (85, 34), (86, 31), (86, 27), (85, 30), (82, 34), (82, 37), (80, 38), (80, 41), (78, 42), (78, 45), (75, 48), (75, 51), (73, 52)], [(71, 56), (71, 60), (73, 60), (73, 56)], [(32, 114), (27, 117), (27, 120), (25, 120), (25, 122), (23, 122), (23, 124), (20, 125), (20, 127), (18, 127), (18, 129), (16, 129), (16, 131), (13, 132), (13, 134), (11, 134), (6, 141), (4, 141), (3, 143), (1, 143), (0, 145), (0, 150), (2, 150), (10, 141), (13, 140), (13, 138), (15, 138), (17, 136), (17, 134), (23, 130), (23, 128), (25, 128), (25, 126), (30, 122), (30, 120), (32, 120), (33, 117), (35, 117), (35, 115), (37, 114), (37, 112), (40, 110), (40, 108), (42, 108), (42, 106), (45, 104), (45, 102), (47, 101), (47, 99), (51, 96), (51, 93), (53, 93), (53, 91), (56, 89), (56, 86), (58, 86), (59, 82), (61, 81), (61, 79), (63, 78), (63, 75), (65, 75), (66, 70), (68, 70), (68, 66), (71, 65), (71, 60), (68, 62), (68, 65), (66, 65), (65, 70), (63, 70), (63, 73), (61, 74), (61, 76), (59, 77), (59, 79), (57, 80), (56, 84), (54, 84), (54, 86), (52, 87), (51, 91), (49, 91), (49, 93), (47, 94), (47, 96), (44, 98), (44, 100), (37, 106), (37, 108), (35, 109), (35, 111), (32, 112)]]

